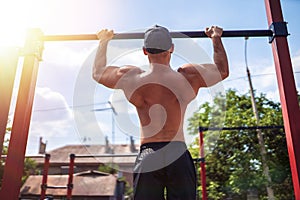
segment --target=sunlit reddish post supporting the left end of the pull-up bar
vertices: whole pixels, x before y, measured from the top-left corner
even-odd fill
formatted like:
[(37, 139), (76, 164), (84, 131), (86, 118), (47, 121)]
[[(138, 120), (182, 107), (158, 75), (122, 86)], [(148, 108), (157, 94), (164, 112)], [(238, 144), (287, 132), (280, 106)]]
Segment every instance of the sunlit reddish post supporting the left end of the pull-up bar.
[(0, 199), (19, 198), (37, 72), (43, 49), (43, 43), (38, 39), (40, 36), (40, 31), (31, 30), (25, 44), (24, 65), (4, 167)]

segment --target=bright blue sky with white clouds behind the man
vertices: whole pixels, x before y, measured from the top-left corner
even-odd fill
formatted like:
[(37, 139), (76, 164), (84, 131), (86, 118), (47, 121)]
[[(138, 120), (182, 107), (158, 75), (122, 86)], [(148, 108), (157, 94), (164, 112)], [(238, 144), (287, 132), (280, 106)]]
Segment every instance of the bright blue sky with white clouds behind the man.
[[(288, 22), (288, 31), (291, 34), (288, 41), (299, 90), (300, 28), (297, 20), (300, 17), (300, 1), (282, 0), (281, 4), (284, 20)], [(1, 1), (0, 13), (2, 44), (14, 41), (30, 27), (38, 27), (44, 34), (93, 34), (102, 28), (114, 29), (115, 32), (143, 31), (154, 24), (166, 26), (171, 31), (203, 30), (211, 25), (221, 26), (224, 30), (268, 29), (263, 0), (7, 0)], [(4, 39), (5, 37), (13, 39)], [(205, 56), (200, 55), (203, 52), (211, 57), (209, 39), (193, 39), (189, 42), (198, 45), (200, 49), (199, 57), (195, 58), (196, 54), (192, 56), (195, 60), (205, 62)], [(233, 88), (245, 93), (248, 91), (248, 82), (244, 62), (244, 38), (224, 38), (223, 42), (231, 71), (229, 78), (218, 85), (216, 91)], [(48, 150), (74, 143), (103, 143), (104, 136), (111, 140), (110, 110), (92, 110), (108, 108), (107, 101), (118, 102), (121, 97), (91, 80), (89, 70), (97, 44), (97, 41), (45, 43), (27, 153), (37, 152), (39, 137), (47, 141)], [(141, 41), (112, 42), (111, 49), (114, 51), (111, 53), (111, 62), (145, 65), (147, 60), (140, 53), (141, 45)], [(172, 61), (174, 69), (184, 62), (180, 56), (185, 47), (180, 45), (179, 41), (175, 42), (175, 56)], [(179, 47), (177, 54), (176, 47)], [(188, 49), (186, 51), (189, 52)], [(125, 54), (113, 59), (115, 52)], [(268, 38), (248, 40), (248, 65), (257, 93), (265, 93), (268, 98), (279, 101)], [(189, 114), (202, 102), (211, 101), (213, 91), (215, 89), (200, 90)], [(115, 142), (128, 143), (128, 135), (134, 136), (138, 141), (138, 121), (134, 109), (124, 104), (123, 100), (114, 106), (119, 113), (115, 123)]]

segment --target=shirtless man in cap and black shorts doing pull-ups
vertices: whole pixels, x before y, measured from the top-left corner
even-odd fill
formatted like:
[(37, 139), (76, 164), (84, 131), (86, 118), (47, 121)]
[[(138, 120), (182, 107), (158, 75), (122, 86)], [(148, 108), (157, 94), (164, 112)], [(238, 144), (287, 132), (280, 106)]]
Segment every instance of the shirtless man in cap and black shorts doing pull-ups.
[(93, 78), (108, 88), (122, 89), (137, 110), (141, 125), (141, 148), (134, 168), (134, 199), (196, 199), (196, 173), (184, 141), (183, 122), (187, 105), (201, 87), (212, 86), (228, 74), (221, 41), (223, 30), (206, 28), (214, 49), (214, 63), (188, 63), (174, 71), (170, 59), (174, 45), (169, 31), (154, 26), (145, 32), (143, 52), (149, 70), (137, 66), (107, 66), (112, 30), (98, 33), (100, 40)]

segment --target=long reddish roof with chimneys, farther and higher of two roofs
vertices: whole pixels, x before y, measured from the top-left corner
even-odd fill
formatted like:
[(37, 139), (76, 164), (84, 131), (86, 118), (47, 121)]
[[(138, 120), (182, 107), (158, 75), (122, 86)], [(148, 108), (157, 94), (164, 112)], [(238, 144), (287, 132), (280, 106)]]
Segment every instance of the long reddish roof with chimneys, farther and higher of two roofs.
[[(50, 154), (50, 163), (66, 164), (70, 162), (70, 154), (75, 154), (75, 163), (91, 164), (91, 163), (117, 163), (117, 164), (133, 164), (136, 159), (138, 145), (67, 145), (52, 151)], [(113, 153), (112, 153), (113, 150)], [(81, 157), (89, 156), (89, 157)], [(37, 163), (44, 163), (42, 157), (32, 157)]]

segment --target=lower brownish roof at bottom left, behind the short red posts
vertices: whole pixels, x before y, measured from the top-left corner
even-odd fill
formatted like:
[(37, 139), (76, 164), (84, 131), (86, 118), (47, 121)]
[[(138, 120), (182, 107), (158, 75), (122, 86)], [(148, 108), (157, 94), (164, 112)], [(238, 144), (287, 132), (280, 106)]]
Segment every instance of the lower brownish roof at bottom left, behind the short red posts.
[[(43, 176), (29, 176), (21, 188), (22, 196), (41, 194)], [(67, 186), (68, 175), (48, 175), (48, 186)], [(102, 172), (85, 172), (74, 174), (72, 196), (114, 196), (117, 177)], [(67, 189), (47, 189), (47, 195), (66, 196)]]

